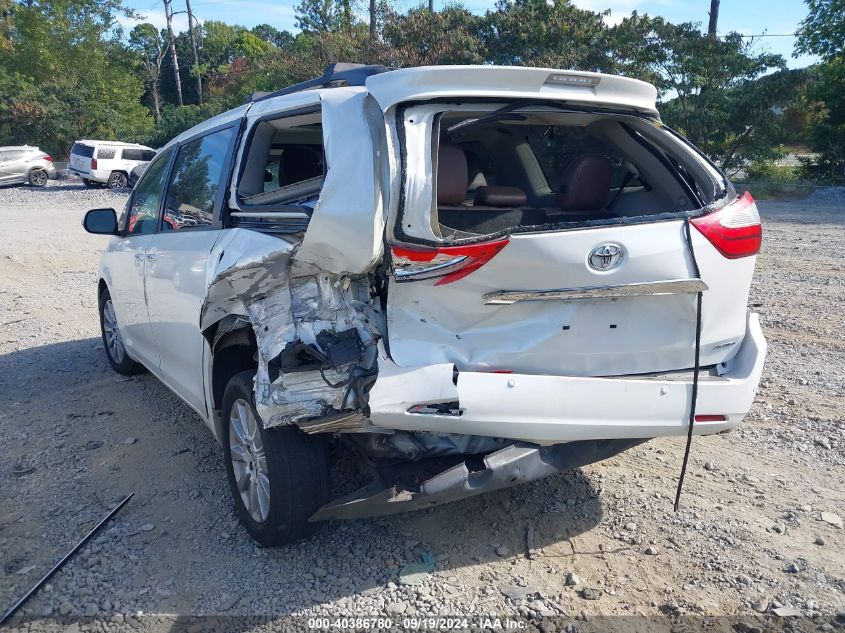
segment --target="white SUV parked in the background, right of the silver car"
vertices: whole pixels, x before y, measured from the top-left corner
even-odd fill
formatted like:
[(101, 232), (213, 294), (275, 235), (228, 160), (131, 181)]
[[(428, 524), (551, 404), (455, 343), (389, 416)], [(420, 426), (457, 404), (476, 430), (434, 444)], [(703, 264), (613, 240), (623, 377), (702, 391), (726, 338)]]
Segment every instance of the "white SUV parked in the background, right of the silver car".
[(88, 187), (108, 185), (123, 189), (129, 186), (132, 170), (146, 165), (154, 156), (154, 149), (137, 143), (76, 141), (70, 150), (68, 170)]

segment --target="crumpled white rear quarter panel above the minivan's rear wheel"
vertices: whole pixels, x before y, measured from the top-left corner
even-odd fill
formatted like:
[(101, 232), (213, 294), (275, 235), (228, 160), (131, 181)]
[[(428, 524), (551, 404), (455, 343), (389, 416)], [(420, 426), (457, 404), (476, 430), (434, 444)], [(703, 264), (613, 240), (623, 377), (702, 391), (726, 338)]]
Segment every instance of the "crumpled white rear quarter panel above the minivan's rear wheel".
[[(230, 314), (249, 318), (258, 346), (255, 405), (265, 427), (320, 417), (346, 405), (346, 371), (299, 371), (271, 377), (269, 362), (288, 343), (316, 344), (323, 331), (354, 328), (368, 349), (365, 364), (375, 361), (375, 337), (384, 319), (361, 297), (367, 297), (368, 278), (331, 275), (294, 260), (298, 240), (234, 229), (231, 238), (215, 247), (217, 266), (200, 314), (205, 331)], [(212, 261), (214, 261), (212, 260)], [(367, 365), (367, 366), (369, 366)], [(344, 402), (346, 401), (346, 402)]]

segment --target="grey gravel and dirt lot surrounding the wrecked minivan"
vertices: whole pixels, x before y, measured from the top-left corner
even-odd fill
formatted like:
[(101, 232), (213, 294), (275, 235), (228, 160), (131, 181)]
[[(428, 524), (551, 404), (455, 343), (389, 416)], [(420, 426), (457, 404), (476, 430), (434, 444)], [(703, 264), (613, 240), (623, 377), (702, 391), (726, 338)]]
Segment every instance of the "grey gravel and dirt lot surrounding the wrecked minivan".
[[(751, 304), (770, 344), (764, 382), (736, 432), (694, 441), (680, 512), (683, 442), (659, 440), (539, 483), (333, 523), (309, 542), (265, 550), (238, 527), (219, 448), (199, 418), (150, 375), (116, 375), (103, 355), (105, 239), (80, 221), (123, 199), (78, 186), (0, 189), (3, 610), (134, 491), (26, 614), (133, 624), (139, 611), (750, 615), (789, 606), (839, 626), (845, 208), (761, 203)], [(435, 571), (400, 584), (397, 570), (426, 553)]]

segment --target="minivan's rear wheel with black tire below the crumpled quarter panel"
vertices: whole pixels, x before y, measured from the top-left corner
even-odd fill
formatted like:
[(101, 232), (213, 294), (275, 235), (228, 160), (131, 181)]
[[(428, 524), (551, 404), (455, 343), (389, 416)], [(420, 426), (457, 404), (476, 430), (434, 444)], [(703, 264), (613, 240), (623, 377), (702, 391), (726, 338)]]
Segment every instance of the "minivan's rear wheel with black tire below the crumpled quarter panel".
[(320, 529), (308, 518), (330, 500), (328, 447), (294, 426), (265, 429), (255, 410), (254, 377), (255, 370), (242, 371), (226, 385), (221, 443), (238, 519), (255, 541), (273, 547)]

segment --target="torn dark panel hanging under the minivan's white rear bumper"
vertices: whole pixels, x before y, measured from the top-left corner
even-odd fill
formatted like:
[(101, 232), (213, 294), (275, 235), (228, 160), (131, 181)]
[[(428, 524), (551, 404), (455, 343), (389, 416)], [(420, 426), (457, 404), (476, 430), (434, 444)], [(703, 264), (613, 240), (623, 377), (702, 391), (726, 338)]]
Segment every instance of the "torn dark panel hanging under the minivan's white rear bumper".
[(430, 508), (580, 468), (645, 441), (586, 440), (543, 447), (516, 443), (487, 455), (483, 470), (470, 469), (461, 462), (414, 488), (396, 481), (407, 479), (409, 473), (387, 469), (368, 486), (323, 506), (310, 520), (357, 519)]

